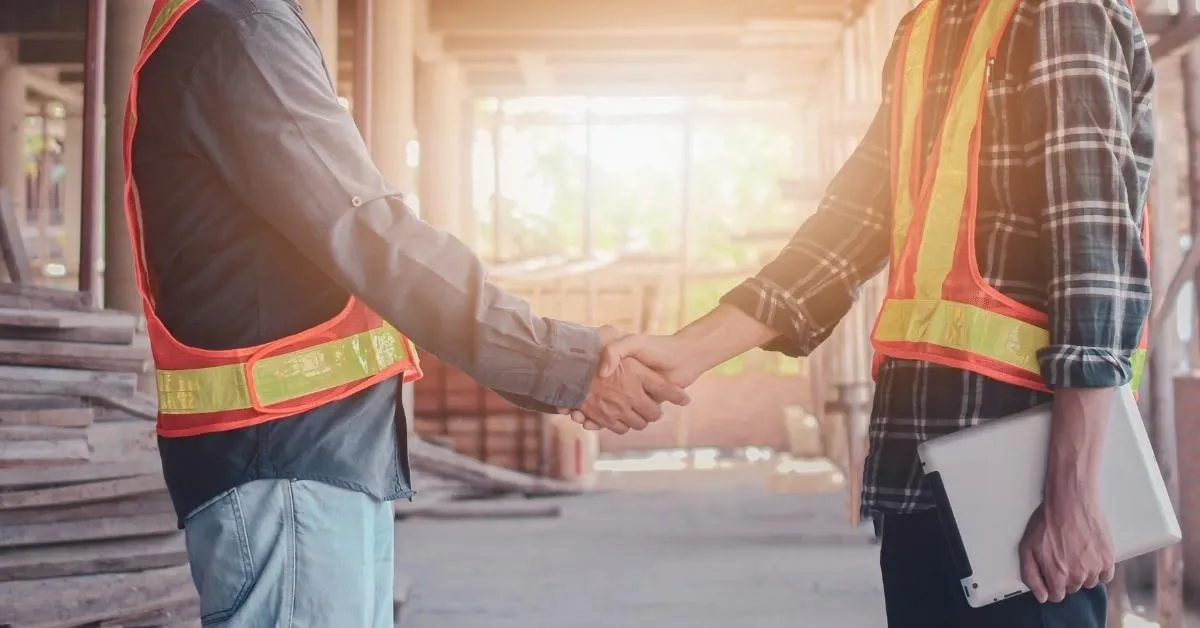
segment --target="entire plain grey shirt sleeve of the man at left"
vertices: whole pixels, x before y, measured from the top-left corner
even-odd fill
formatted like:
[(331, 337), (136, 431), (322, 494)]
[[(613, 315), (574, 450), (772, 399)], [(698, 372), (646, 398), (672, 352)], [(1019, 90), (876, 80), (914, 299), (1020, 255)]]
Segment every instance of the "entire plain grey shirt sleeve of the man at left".
[(527, 405), (582, 403), (596, 331), (534, 315), (406, 207), (298, 17), (259, 12), (216, 35), (184, 107), (196, 152), (246, 209), (424, 351)]

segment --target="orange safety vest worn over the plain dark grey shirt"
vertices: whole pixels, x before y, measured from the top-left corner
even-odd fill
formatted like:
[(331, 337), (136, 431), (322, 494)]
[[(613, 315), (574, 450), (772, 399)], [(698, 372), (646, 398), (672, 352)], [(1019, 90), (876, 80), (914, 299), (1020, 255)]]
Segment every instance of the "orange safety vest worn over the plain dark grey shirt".
[[(413, 343), (355, 298), (334, 318), (265, 345), (208, 351), (184, 345), (155, 313), (152, 277), (133, 180), (138, 76), (172, 28), (199, 0), (156, 0), (130, 82), (125, 118), (125, 211), (158, 388), (158, 433), (194, 436), (294, 417), (421, 369)], [(217, 323), (220, 324), (220, 323)]]

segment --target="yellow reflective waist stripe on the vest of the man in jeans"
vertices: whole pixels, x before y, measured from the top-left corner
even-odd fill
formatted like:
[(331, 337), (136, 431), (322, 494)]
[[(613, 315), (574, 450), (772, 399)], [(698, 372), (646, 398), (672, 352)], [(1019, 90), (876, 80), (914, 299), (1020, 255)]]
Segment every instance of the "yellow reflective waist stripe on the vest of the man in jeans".
[[(258, 402), (271, 406), (366, 379), (413, 357), (412, 343), (389, 324), (253, 365)], [(252, 407), (246, 365), (157, 371), (163, 414), (228, 412)]]

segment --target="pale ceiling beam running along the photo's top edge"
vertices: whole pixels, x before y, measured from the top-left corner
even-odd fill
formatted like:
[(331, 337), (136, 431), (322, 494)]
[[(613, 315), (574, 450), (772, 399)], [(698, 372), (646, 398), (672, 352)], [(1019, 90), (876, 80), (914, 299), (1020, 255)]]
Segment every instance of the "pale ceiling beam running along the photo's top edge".
[(845, 0), (438, 0), (430, 6), (430, 26), (439, 32), (686, 32), (750, 22), (842, 23), (847, 6)]

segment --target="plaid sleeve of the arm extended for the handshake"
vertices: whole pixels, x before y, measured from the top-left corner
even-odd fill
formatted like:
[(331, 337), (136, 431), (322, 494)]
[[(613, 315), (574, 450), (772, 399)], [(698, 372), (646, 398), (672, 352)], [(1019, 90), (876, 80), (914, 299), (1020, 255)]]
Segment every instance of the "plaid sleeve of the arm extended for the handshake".
[[(889, 55), (884, 77), (890, 66)], [(887, 264), (892, 222), (887, 83), (866, 134), (834, 175), (817, 211), (774, 261), (721, 298), (779, 333), (762, 347), (767, 351), (811, 353), (854, 305), (859, 288)]]

